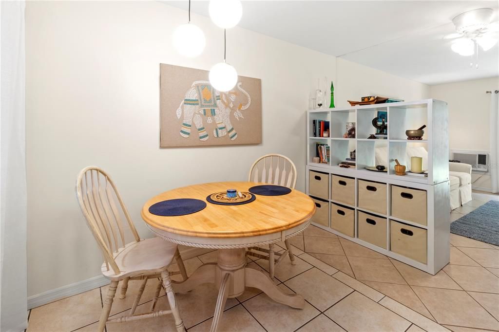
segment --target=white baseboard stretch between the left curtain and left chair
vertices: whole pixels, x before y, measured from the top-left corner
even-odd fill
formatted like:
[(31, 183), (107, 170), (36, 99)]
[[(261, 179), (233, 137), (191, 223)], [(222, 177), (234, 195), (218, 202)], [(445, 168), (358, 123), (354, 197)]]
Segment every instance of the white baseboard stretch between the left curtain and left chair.
[(43, 306), (47, 303), (90, 291), (94, 288), (105, 286), (107, 284), (109, 284), (109, 280), (106, 279), (103, 275), (100, 275), (87, 280), (78, 281), (74, 284), (69, 284), (50, 291), (36, 294), (28, 297), (28, 309)]

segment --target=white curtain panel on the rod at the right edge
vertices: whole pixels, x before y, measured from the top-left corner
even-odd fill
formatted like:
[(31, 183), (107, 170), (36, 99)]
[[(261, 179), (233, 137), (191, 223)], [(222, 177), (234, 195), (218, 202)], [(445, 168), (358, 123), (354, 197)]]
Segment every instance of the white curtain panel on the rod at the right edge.
[(491, 180), (492, 192), (499, 192), (499, 90), (491, 95)]

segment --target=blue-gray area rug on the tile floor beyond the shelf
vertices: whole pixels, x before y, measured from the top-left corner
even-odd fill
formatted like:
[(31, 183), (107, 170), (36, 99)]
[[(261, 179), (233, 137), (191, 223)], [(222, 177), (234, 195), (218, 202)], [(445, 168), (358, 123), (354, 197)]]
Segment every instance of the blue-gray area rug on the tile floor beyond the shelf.
[(490, 200), (452, 222), (451, 233), (499, 246), (499, 201)]

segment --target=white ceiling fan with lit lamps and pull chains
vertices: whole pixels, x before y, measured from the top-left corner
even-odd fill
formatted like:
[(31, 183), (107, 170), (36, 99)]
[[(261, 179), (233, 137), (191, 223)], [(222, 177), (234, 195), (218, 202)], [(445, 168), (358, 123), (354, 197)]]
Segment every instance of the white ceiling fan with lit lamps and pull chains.
[[(451, 45), (454, 52), (463, 56), (476, 54), (476, 68), (478, 68), (479, 46), (488, 51), (499, 39), (499, 22), (492, 22), (493, 13), (492, 8), (461, 13), (452, 19), (457, 32), (444, 37), (444, 39), (455, 39)], [(470, 67), (473, 67), (473, 62), (470, 63)]]

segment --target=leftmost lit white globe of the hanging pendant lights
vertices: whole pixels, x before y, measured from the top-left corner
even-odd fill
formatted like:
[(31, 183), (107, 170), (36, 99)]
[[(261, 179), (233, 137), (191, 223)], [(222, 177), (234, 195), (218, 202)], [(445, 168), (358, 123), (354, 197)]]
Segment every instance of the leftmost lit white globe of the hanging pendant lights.
[(189, 58), (203, 53), (206, 45), (206, 38), (203, 30), (192, 23), (186, 23), (178, 26), (173, 31), (172, 36), (173, 47)]

